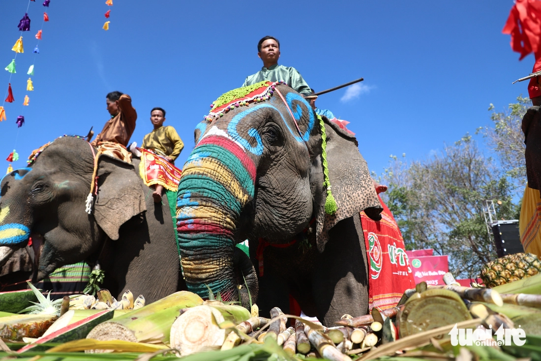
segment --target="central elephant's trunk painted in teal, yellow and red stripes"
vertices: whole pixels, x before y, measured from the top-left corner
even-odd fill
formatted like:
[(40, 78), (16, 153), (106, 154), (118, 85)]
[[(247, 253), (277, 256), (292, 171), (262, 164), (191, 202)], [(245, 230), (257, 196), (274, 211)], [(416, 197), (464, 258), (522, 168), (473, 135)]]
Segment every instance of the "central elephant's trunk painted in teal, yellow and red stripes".
[[(223, 300), (253, 300), (255, 270), (235, 247), (236, 222), (253, 198), (254, 162), (237, 142), (221, 135), (204, 137), (183, 167), (177, 198), (177, 231), (181, 266), (190, 291)], [(244, 286), (248, 285), (248, 290)]]

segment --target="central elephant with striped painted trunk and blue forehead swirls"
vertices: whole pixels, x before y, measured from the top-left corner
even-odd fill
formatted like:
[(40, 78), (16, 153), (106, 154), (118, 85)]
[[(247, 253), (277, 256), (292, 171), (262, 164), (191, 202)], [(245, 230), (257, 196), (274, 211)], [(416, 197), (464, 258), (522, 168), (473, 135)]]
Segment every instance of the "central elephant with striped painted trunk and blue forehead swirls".
[[(245, 306), (251, 296), (263, 313), (287, 312), (291, 294), (326, 325), (344, 313), (365, 314), (359, 212), (379, 220), (381, 205), (357, 140), (327, 119), (322, 128), (285, 84), (265, 91), (257, 101), (233, 101), (195, 130), (177, 198), (188, 289), (205, 296), (210, 287)], [(335, 213), (325, 211), (328, 190)], [(251, 264), (235, 247), (245, 239)]]

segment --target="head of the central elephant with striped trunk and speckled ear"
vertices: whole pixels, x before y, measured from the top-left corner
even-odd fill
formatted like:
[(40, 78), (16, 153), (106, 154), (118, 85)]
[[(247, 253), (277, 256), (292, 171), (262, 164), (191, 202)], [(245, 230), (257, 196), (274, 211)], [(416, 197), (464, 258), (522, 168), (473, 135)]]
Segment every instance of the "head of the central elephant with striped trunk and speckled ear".
[[(190, 291), (205, 296), (210, 287), (246, 305), (248, 292), (255, 300), (258, 284), (237, 242), (285, 244), (315, 219), (322, 251), (340, 220), (367, 208), (378, 218), (380, 204), (357, 141), (327, 121), (324, 157), (321, 126), (304, 98), (279, 84), (265, 98), (233, 102), (227, 113), (196, 127), (177, 198), (181, 265)], [(325, 213), (324, 160), (338, 205), (334, 214)]]

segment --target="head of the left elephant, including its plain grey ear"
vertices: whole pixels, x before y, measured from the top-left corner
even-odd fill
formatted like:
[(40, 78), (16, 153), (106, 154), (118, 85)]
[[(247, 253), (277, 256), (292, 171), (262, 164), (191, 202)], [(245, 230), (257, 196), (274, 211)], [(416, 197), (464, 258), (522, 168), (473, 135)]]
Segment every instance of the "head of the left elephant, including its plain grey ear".
[[(6, 174), (0, 182), (0, 265), (32, 236), (35, 280), (55, 268), (97, 259), (105, 236), (146, 210), (133, 167), (99, 157), (98, 194), (92, 214), (85, 212), (95, 150), (77, 137), (60, 137), (34, 164)], [(131, 167), (131, 169), (130, 169)]]

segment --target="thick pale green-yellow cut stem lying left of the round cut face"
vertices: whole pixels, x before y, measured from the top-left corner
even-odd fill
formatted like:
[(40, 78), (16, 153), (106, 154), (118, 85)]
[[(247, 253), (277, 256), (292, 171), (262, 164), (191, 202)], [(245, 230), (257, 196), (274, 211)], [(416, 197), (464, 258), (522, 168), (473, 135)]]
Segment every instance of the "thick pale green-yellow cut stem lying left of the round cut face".
[(169, 343), (171, 325), (179, 315), (179, 311), (202, 304), (203, 300), (195, 293), (175, 292), (141, 309), (126, 312), (123, 316), (97, 325), (87, 338), (103, 341), (118, 339), (143, 343)]

